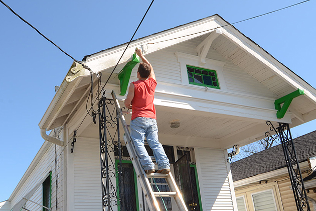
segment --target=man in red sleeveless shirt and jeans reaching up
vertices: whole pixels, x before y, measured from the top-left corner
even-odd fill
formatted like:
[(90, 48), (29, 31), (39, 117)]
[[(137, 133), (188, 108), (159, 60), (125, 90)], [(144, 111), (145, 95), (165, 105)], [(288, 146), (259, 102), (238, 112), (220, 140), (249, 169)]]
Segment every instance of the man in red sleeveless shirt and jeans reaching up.
[(154, 173), (155, 169), (144, 146), (145, 137), (158, 165), (157, 173), (168, 174), (170, 163), (158, 140), (156, 110), (153, 105), (154, 90), (157, 85), (156, 77), (151, 64), (141, 51), (136, 48), (135, 52), (141, 58), (142, 63), (139, 63), (137, 70), (138, 80), (130, 83), (124, 101), (125, 107), (132, 109), (130, 136), (146, 174)]

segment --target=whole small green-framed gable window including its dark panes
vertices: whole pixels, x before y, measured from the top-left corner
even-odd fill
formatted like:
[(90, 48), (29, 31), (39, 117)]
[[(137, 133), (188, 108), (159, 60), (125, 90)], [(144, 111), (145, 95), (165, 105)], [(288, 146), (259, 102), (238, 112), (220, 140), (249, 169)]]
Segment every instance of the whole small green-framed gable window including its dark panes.
[(189, 84), (220, 89), (215, 70), (187, 65)]

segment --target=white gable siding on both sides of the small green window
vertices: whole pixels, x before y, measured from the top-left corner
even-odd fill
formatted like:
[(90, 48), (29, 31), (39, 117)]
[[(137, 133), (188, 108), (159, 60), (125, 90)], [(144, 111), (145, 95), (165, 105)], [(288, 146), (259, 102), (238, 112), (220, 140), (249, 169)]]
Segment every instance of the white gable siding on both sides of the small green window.
[[(200, 42), (198, 39), (190, 40), (175, 46), (171, 46), (167, 49), (156, 51), (152, 55), (147, 55), (146, 58), (154, 67), (157, 81), (182, 84), (180, 64), (178, 63), (177, 57), (175, 56), (175, 52), (178, 51), (196, 56), (197, 52), (195, 51), (195, 48), (199, 44)], [(254, 77), (249, 75), (237, 65), (233, 64), (228, 59), (224, 58), (212, 48), (210, 49), (206, 58), (226, 62), (223, 67), (223, 75), (225, 78), (227, 91), (264, 97), (276, 96)], [(136, 71), (136, 68), (134, 68), (132, 76), (136, 75)]]

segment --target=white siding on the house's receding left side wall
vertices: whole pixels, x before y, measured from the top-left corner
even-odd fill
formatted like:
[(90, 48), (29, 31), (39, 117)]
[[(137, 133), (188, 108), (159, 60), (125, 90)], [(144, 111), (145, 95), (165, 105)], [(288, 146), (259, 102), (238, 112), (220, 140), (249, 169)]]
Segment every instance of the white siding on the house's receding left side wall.
[[(56, 150), (56, 155), (57, 159), (55, 162), (55, 145), (50, 144), (50, 143), (45, 143), (49, 144), (49, 148), (47, 151), (44, 153), (43, 157), (40, 159), (34, 170), (32, 171), (31, 175), (27, 178), (27, 180), (24, 182), (20, 190), (17, 192), (15, 197), (13, 198), (11, 204), (14, 206), (17, 202), (19, 202), (22, 197), (24, 197), (35, 185), (37, 185), (50, 171), (52, 171), (52, 210), (56, 210), (56, 183), (58, 186), (58, 209), (61, 208), (61, 178), (62, 178), (62, 165), (61, 165), (61, 152), (62, 148), (60, 146), (57, 146)], [(45, 145), (44, 144), (44, 145)], [(55, 168), (57, 166), (57, 169)], [(58, 178), (56, 180), (56, 170), (58, 172)], [(43, 202), (43, 186), (41, 185), (35, 193), (29, 198), (32, 201), (35, 201), (39, 204), (42, 204)], [(26, 206), (27, 209), (30, 209), (32, 211), (41, 211), (42, 207), (27, 201)]]

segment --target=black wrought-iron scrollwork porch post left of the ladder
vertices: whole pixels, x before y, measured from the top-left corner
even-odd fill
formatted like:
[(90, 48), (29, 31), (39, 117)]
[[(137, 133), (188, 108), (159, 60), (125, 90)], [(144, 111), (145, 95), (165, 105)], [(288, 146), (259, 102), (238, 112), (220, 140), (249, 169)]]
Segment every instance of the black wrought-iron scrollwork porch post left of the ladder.
[[(101, 189), (102, 189), (102, 210), (113, 210), (113, 206), (120, 205), (123, 195), (118, 193), (116, 185), (112, 183), (113, 177), (118, 177), (121, 184), (121, 144), (119, 137), (119, 124), (117, 112), (113, 105), (112, 99), (107, 99), (105, 94), (98, 103), (99, 107), (99, 139), (100, 139), (100, 164), (101, 164)], [(113, 108), (113, 111), (110, 109)], [(108, 115), (108, 116), (107, 116)], [(115, 132), (109, 130), (114, 129)], [(117, 143), (117, 144), (116, 144)], [(118, 151), (118, 168), (115, 169), (115, 161), (110, 156), (110, 153)]]

